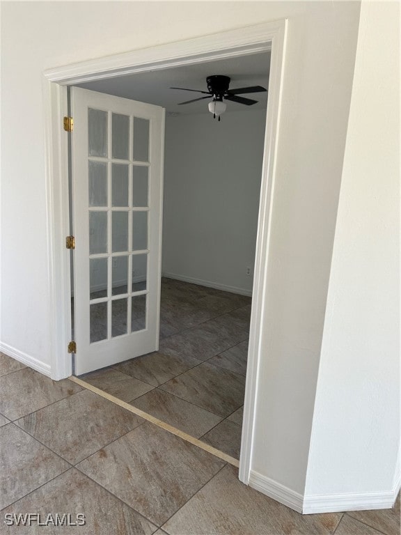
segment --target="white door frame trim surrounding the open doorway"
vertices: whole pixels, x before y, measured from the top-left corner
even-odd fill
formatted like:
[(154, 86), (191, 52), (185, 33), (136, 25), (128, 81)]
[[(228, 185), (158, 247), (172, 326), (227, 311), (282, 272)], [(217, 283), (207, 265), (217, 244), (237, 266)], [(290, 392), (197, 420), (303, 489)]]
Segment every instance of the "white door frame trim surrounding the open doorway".
[(251, 470), (259, 363), (265, 352), (262, 344), (262, 325), (266, 310), (270, 222), (276, 178), (287, 26), (288, 20), (247, 26), (210, 36), (65, 65), (46, 70), (42, 77), (47, 187), (48, 307), (49, 317), (52, 318), (49, 330), (52, 333), (52, 379), (60, 380), (72, 373), (71, 357), (67, 352), (71, 337), (70, 251), (65, 249), (65, 236), (70, 233), (68, 138), (63, 130), (62, 120), (63, 116), (68, 115), (67, 87), (119, 75), (271, 52), (244, 422), (239, 458), (239, 479), (246, 484), (249, 483)]

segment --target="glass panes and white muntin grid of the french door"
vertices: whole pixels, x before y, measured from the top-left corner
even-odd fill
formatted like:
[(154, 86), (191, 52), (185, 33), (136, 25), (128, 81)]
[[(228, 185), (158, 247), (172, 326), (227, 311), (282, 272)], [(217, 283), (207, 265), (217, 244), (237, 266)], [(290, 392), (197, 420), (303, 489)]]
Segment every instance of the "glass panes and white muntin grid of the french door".
[(91, 343), (147, 328), (150, 126), (88, 108)]

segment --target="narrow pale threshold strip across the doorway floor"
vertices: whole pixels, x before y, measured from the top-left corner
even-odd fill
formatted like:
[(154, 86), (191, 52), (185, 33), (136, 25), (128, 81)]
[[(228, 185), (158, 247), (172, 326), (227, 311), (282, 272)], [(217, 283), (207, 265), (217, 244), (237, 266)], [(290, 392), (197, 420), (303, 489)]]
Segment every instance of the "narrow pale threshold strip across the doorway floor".
[(122, 401), (116, 396), (111, 396), (111, 394), (107, 394), (107, 392), (104, 392), (103, 390), (100, 390), (97, 387), (93, 387), (93, 385), (90, 385), (88, 382), (85, 382), (79, 378), (71, 376), (69, 378), (73, 382), (77, 383), (77, 385), (80, 385), (81, 387), (84, 387), (88, 390), (93, 391), (95, 394), (98, 394), (99, 396), (102, 396), (102, 398), (106, 398), (112, 403), (115, 403), (116, 405), (120, 405), (120, 407), (129, 410), (129, 412), (133, 412), (136, 414), (136, 416), (139, 416), (143, 418), (144, 420), (150, 421), (151, 424), (155, 424), (155, 426), (158, 426), (164, 431), (168, 431), (168, 433), (172, 433), (173, 435), (176, 435), (182, 440), (185, 440), (186, 442), (189, 442), (190, 444), (193, 444), (194, 446), (203, 449), (204, 451), (207, 451), (207, 453), (211, 453), (215, 457), (218, 457), (221, 460), (224, 460), (226, 463), (229, 463), (230, 465), (233, 465), (235, 467), (239, 467), (239, 461), (227, 453), (224, 453), (223, 451), (220, 451), (219, 449), (216, 449), (209, 444), (205, 444), (204, 442), (201, 442), (201, 440), (198, 440), (198, 438), (191, 437), (191, 435), (188, 435), (187, 433), (184, 433), (184, 431), (180, 431), (180, 429), (175, 428), (171, 426), (170, 424), (166, 424), (164, 421), (152, 416), (152, 414), (148, 414), (147, 412), (144, 412), (143, 410), (136, 408), (134, 405), (129, 405), (129, 403)]

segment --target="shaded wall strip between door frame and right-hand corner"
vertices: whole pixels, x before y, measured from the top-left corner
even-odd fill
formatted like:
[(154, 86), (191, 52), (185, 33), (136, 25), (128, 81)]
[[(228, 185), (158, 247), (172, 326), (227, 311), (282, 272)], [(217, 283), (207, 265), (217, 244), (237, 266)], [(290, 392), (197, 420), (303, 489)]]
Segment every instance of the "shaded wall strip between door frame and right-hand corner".
[[(253, 447), (260, 474), (304, 493), (354, 73), (359, 3), (290, 18)], [(260, 479), (260, 478), (259, 478)], [(269, 486), (269, 481), (265, 481)]]

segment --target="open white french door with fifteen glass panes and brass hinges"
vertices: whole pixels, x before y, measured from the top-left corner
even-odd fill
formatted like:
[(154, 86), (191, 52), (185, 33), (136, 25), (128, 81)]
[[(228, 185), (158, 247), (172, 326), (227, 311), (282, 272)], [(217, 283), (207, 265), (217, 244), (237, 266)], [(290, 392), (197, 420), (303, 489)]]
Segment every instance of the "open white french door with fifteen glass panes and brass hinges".
[(164, 109), (71, 88), (75, 373), (159, 348)]

